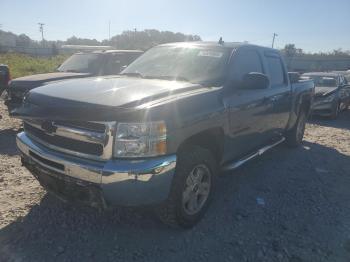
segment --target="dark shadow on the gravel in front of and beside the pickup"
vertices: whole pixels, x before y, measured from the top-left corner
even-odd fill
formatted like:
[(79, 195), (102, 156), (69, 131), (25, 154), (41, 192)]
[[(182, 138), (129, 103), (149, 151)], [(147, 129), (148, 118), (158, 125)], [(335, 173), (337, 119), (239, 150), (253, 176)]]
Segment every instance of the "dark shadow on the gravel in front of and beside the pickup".
[[(292, 256), (301, 238), (308, 249), (328, 239), (328, 249), (338, 252), (339, 240), (333, 246), (331, 236), (349, 203), (333, 199), (350, 196), (349, 165), (349, 156), (320, 144), (280, 146), (220, 176), (207, 215), (187, 231), (163, 226), (148, 210), (99, 213), (47, 194), (0, 230), (0, 254), (5, 261), (223, 261), (225, 254), (242, 261), (255, 256), (258, 243), (266, 243), (267, 254)], [(337, 209), (326, 208), (333, 204)], [(206, 252), (198, 257), (200, 250)]]

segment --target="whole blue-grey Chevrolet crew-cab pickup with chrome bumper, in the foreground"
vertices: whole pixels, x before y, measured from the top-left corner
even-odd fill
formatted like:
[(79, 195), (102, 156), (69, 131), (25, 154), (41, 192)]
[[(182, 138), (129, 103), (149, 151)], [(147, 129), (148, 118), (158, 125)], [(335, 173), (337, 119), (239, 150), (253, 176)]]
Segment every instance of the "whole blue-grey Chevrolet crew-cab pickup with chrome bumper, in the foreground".
[(154, 47), (119, 76), (30, 91), (16, 115), (22, 163), (61, 199), (149, 206), (193, 226), (215, 179), (285, 141), (301, 144), (314, 84), (278, 51), (238, 43)]

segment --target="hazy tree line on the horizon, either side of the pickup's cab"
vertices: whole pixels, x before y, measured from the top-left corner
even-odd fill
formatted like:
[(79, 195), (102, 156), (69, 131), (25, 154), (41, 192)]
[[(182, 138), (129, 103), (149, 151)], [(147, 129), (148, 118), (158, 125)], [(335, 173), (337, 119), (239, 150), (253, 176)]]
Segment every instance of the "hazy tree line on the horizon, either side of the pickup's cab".
[[(11, 41), (5, 41), (10, 39)], [(23, 48), (52, 48), (52, 53), (58, 53), (58, 48), (62, 45), (94, 45), (94, 46), (112, 46), (116, 49), (140, 49), (147, 50), (152, 46), (182, 41), (201, 41), (201, 37), (192, 34), (174, 33), (171, 31), (159, 31), (156, 29), (145, 29), (142, 31), (126, 30), (121, 34), (115, 35), (110, 39), (102, 41), (96, 39), (79, 38), (72, 36), (65, 41), (35, 41), (25, 34), (16, 35), (11, 32), (0, 30), (0, 47), (4, 43), (12, 42), (15, 47)], [(1, 49), (0, 49), (1, 50)], [(291, 59), (349, 59), (350, 51), (335, 49), (331, 52), (306, 53), (294, 44), (287, 44), (280, 50), (285, 58)]]

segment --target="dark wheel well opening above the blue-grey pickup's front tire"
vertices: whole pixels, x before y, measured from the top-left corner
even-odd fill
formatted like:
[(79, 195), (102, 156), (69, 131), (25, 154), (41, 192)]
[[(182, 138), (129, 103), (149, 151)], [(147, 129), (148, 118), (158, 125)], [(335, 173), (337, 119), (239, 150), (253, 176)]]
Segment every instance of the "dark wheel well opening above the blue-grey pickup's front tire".
[(188, 145), (196, 145), (209, 150), (219, 163), (224, 151), (224, 131), (222, 128), (211, 128), (195, 134), (181, 143), (179, 151)]

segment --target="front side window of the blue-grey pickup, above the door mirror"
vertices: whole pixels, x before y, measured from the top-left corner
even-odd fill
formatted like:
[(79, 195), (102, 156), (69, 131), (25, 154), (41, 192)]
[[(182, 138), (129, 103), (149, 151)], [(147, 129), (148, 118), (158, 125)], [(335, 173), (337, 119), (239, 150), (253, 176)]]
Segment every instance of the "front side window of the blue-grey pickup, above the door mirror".
[(251, 73), (263, 73), (261, 59), (255, 50), (239, 50), (233, 56), (233, 61), (230, 70), (230, 79), (240, 82), (243, 76)]

